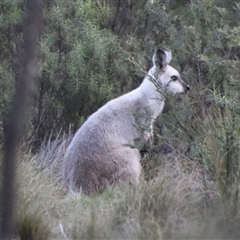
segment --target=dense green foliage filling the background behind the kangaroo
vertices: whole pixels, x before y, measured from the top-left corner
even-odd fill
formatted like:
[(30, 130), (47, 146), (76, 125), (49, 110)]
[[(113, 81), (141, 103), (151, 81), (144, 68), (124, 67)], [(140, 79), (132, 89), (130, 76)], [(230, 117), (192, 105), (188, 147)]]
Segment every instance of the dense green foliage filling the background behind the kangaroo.
[[(24, 8), (0, 3), (0, 136), (18, 79)], [(141, 83), (157, 47), (170, 48), (191, 92), (167, 97), (148, 157), (171, 146), (199, 166), (206, 188), (214, 183), (226, 216), (239, 218), (239, 11), (238, 1), (225, 0), (46, 1), (26, 139), (39, 149), (45, 137), (76, 130)]]

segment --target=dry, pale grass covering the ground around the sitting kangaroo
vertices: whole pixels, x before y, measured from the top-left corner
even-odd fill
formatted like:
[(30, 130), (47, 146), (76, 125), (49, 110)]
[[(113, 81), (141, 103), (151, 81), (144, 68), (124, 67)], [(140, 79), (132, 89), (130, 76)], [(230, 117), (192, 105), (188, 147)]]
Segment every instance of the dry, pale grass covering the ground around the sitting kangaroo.
[[(59, 169), (56, 159), (61, 161), (59, 153), (66, 144), (52, 144), (48, 151), (42, 149), (45, 155), (24, 154), (21, 159), (16, 228), (20, 236), (28, 239), (238, 239), (235, 222), (239, 216), (234, 220), (227, 217), (214, 183), (189, 159), (176, 153), (158, 155), (152, 158), (155, 164), (148, 159), (151, 166), (147, 168), (148, 174), (151, 170), (154, 173), (150, 174), (151, 180), (146, 181), (142, 176), (139, 186), (118, 186), (100, 196), (66, 195), (60, 175), (52, 167)], [(48, 164), (39, 164), (42, 156), (49, 160)]]

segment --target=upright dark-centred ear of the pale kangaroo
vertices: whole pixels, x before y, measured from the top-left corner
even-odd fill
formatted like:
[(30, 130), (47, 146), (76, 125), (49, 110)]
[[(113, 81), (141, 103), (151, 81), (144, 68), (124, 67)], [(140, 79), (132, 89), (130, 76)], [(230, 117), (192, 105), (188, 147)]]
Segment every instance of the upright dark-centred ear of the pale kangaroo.
[(152, 61), (155, 66), (162, 70), (170, 63), (171, 59), (172, 52), (169, 49), (162, 50), (159, 48), (153, 55)]

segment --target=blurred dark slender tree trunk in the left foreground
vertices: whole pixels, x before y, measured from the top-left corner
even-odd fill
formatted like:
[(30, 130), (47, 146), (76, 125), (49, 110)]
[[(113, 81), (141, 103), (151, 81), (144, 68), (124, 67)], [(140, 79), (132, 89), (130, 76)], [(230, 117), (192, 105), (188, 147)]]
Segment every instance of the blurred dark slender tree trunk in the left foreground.
[(5, 130), (2, 166), (1, 239), (13, 239), (16, 203), (15, 173), (18, 147), (23, 136), (30, 107), (32, 82), (36, 72), (37, 46), (42, 27), (43, 0), (27, 0), (23, 26), (23, 54), (11, 112)]

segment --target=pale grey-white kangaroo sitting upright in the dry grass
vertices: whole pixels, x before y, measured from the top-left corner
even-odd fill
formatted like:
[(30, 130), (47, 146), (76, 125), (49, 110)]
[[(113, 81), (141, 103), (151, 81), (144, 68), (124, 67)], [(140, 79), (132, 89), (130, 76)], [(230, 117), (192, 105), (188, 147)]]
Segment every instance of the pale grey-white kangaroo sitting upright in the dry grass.
[[(190, 86), (169, 65), (170, 50), (158, 49), (153, 67), (135, 90), (113, 99), (80, 127), (63, 158), (69, 191), (101, 193), (119, 182), (137, 183), (141, 173), (135, 139), (151, 138), (153, 123), (164, 107), (164, 92), (186, 93)], [(148, 114), (148, 118), (144, 118)], [(139, 130), (147, 125), (146, 133)]]

